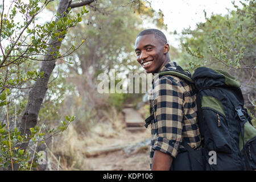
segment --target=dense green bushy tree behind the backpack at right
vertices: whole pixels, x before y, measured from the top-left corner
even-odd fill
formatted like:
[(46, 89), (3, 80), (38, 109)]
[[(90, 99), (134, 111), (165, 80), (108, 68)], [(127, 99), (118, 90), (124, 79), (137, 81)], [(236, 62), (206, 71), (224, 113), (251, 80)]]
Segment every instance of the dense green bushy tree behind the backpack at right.
[[(182, 63), (191, 70), (200, 66), (226, 69), (241, 83), (245, 105), (255, 114), (255, 1), (229, 15), (211, 15), (195, 30), (184, 30)], [(233, 2), (234, 4), (234, 2)]]

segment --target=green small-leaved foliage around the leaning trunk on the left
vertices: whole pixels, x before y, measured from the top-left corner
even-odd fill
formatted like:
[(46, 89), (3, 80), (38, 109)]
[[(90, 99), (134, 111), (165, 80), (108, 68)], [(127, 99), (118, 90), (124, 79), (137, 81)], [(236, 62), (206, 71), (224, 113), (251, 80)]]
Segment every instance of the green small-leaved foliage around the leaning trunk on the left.
[[(64, 15), (59, 13), (55, 15), (56, 22), (51, 20), (40, 24), (37, 18), (51, 1), (12, 1), (8, 9), (6, 9), (5, 1), (2, 2), (0, 6), (0, 107), (5, 106), (8, 110), (1, 110), (0, 167), (9, 166), (10, 169), (10, 164), (13, 166), (17, 163), (19, 170), (26, 170), (31, 169), (31, 165), (35, 167), (36, 160), (31, 161), (30, 150), (20, 149), (20, 146), (24, 143), (44, 143), (45, 133), (40, 130), (39, 126), (36, 126), (30, 128), (30, 135), (24, 135), (16, 125), (13, 126), (13, 123), (10, 123), (9, 129), (9, 125), (6, 125), (9, 124), (7, 121), (9, 119), (16, 121), (14, 118), (20, 118), (27, 104), (26, 89), (32, 88), (37, 79), (45, 76), (44, 72), (38, 71), (40, 61), (44, 61), (47, 56), (51, 56), (49, 61), (63, 59), (81, 46), (83, 41), (79, 46), (73, 42), (68, 51), (60, 53), (60, 46), (55, 49), (53, 44), (62, 42), (68, 28), (77, 26), (77, 23), (82, 20), (81, 16), (88, 13), (88, 10), (84, 6), (75, 16), (71, 16), (72, 12), (69, 7)], [(50, 48), (53, 49), (52, 52), (49, 52)], [(6, 88), (8, 88), (7, 96)], [(49, 93), (49, 95), (51, 96), (47, 99), (51, 100), (54, 94)], [(47, 99), (44, 106), (48, 103)], [(41, 117), (41, 120), (46, 120), (46, 117)], [(53, 128), (48, 131), (49, 137), (65, 131), (74, 120), (75, 117), (66, 116), (57, 129)]]

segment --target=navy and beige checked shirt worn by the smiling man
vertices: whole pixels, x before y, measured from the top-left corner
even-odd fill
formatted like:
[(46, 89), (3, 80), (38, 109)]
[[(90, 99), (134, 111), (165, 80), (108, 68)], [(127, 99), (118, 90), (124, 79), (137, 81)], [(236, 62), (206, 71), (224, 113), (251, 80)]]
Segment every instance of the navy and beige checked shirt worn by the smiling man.
[[(166, 64), (160, 72), (176, 69), (175, 62)], [(197, 124), (196, 94), (192, 86), (179, 77), (154, 75), (150, 96), (151, 122), (150, 168), (154, 151), (159, 150), (176, 158), (184, 150), (185, 140), (199, 149), (201, 136)]]

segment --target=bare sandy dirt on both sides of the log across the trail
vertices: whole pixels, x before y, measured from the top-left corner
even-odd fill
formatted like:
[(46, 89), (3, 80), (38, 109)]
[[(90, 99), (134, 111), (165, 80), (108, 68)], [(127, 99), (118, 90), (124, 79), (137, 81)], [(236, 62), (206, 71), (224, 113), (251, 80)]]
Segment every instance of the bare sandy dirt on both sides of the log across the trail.
[[(126, 144), (140, 143), (150, 137), (148, 130), (131, 133), (130, 131), (122, 130), (122, 133), (114, 138), (106, 138), (104, 143), (112, 143), (112, 146), (121, 146)], [(109, 144), (102, 144), (101, 148), (108, 148)], [(121, 146), (122, 147), (122, 146)], [(123, 150), (104, 152), (97, 156), (87, 157), (85, 159), (86, 168), (88, 170), (150, 170), (149, 164), (149, 147), (138, 147), (134, 152), (126, 152)]]

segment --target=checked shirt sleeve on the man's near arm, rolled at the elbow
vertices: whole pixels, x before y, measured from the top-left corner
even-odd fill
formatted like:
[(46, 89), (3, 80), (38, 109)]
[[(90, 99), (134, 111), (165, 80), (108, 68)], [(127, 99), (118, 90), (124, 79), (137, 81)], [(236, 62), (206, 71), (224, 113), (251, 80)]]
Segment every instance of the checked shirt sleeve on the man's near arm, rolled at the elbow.
[(155, 139), (152, 149), (173, 158), (176, 158), (182, 141), (184, 93), (183, 86), (168, 78), (161, 78), (155, 87)]

